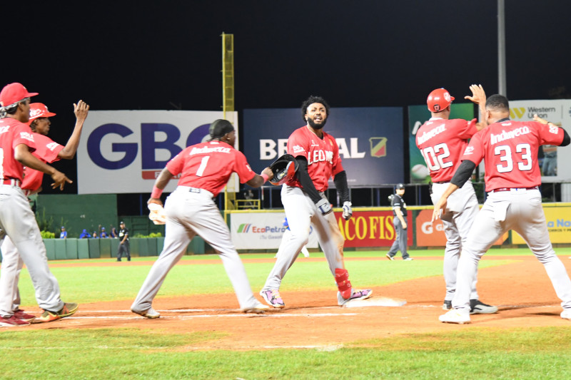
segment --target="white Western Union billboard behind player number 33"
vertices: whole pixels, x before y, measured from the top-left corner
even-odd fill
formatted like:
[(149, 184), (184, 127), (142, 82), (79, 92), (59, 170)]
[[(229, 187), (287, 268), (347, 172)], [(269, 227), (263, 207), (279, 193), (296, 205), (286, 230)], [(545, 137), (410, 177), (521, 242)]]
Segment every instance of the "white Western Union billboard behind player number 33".
[[(552, 101), (510, 101), (510, 119), (516, 121), (533, 120), (537, 115), (559, 125), (570, 133), (571, 100), (557, 99)], [(542, 182), (571, 181), (571, 149), (557, 148), (554, 145), (542, 145), (537, 152), (537, 162), (541, 169)]]

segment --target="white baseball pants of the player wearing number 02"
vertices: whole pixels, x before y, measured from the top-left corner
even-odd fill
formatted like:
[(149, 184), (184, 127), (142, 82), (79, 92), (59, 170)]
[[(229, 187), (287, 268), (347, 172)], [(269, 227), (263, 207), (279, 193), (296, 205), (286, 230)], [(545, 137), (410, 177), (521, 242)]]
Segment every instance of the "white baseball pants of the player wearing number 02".
[[(436, 205), (443, 192), (450, 183), (433, 183), (433, 193), (430, 195), (433, 204)], [(448, 197), (446, 209), (440, 215), (440, 220), (444, 225), (444, 235), (446, 235), (446, 247), (444, 250), (444, 281), (446, 283), (445, 301), (452, 301), (456, 291), (456, 277), (458, 260), (463, 245), (468, 238), (468, 232), (472, 227), (480, 206), (471, 181), (467, 181), (462, 188), (459, 188)], [(477, 269), (476, 269), (477, 271)], [(470, 299), (479, 299), (476, 291), (477, 272), (470, 289)]]

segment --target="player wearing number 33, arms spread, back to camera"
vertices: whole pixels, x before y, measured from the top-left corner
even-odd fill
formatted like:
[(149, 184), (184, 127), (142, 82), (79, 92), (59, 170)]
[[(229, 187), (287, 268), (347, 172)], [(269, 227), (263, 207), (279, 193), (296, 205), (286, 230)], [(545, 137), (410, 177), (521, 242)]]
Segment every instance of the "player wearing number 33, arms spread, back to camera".
[(507, 230), (520, 234), (543, 264), (557, 297), (562, 300), (561, 317), (571, 319), (571, 280), (549, 239), (541, 205), (541, 174), (537, 163), (540, 145), (569, 145), (570, 137), (565, 130), (537, 118), (537, 115), (535, 121), (510, 120), (505, 96), (490, 96), (485, 112), (490, 125), (473, 135), (450, 185), (434, 206), (433, 220), (446, 209), (448, 197), (463, 187), (476, 165), (484, 160), (485, 186), (489, 195), (462, 246), (453, 309), (439, 319), (447, 323), (470, 323), (470, 289), (477, 264)]

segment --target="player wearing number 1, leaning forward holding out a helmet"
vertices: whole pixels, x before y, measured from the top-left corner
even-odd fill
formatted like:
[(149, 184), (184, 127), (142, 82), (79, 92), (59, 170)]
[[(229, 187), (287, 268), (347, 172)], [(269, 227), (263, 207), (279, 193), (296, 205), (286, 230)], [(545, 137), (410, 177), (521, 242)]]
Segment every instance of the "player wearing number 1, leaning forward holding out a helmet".
[(269, 309), (254, 298), (246, 270), (230, 240), (230, 230), (213, 197), (224, 188), (233, 172), (238, 173), (241, 183), (253, 188), (259, 188), (273, 173), (270, 168), (264, 169), (261, 175), (252, 171), (243, 153), (234, 149), (236, 131), (228, 120), (214, 121), (210, 125), (210, 135), (208, 142), (189, 146), (166, 164), (147, 202), (149, 205), (162, 205), (163, 189), (174, 175), (181, 174), (178, 187), (166, 199), (163, 252), (131, 306), (131, 311), (143, 317), (160, 317), (152, 307), (153, 299), (168, 271), (181, 260), (186, 247), (196, 235), (220, 255), (242, 311), (260, 313)]

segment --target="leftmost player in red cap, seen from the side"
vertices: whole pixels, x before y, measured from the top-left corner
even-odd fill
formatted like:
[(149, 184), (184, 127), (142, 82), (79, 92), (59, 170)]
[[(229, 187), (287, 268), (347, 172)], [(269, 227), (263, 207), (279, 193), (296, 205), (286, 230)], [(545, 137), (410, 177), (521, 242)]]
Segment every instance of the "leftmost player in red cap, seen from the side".
[[(6, 117), (0, 119), (0, 152), (3, 160), (0, 163), (0, 244), (4, 237), (9, 236), (18, 250), (19, 257), (24, 260), (36, 290), (36, 300), (44, 313), (37, 319), (39, 322), (49, 322), (74, 314), (78, 305), (61, 301), (59, 284), (48, 267), (46, 247), (41, 240), (40, 230), (30, 209), (28, 198), (20, 185), (27, 168), (40, 170), (51, 175), (54, 183), (52, 188), (63, 190), (71, 180), (64, 173), (43, 163), (31, 154), (31, 150), (41, 147), (36, 145), (34, 135), (26, 123), (30, 115), (30, 93), (20, 83), (4, 86), (0, 92), (1, 111)], [(19, 319), (14, 315), (14, 277), (4, 276), (4, 267), (11, 267), (12, 273), (17, 272), (18, 260), (11, 264), (2, 263), (0, 276), (0, 326), (19, 326), (29, 324), (29, 321)], [(14, 267), (12, 267), (14, 266)], [(4, 278), (6, 277), (6, 278)], [(28, 314), (29, 315), (29, 314)]]

